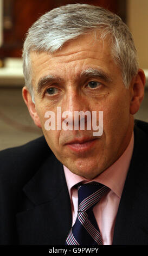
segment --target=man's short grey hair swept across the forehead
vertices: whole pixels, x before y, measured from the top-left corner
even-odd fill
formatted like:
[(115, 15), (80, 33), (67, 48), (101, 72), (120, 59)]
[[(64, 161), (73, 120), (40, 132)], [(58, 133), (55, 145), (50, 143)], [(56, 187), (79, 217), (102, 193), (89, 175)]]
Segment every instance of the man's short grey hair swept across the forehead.
[(68, 40), (92, 31), (101, 32), (102, 39), (109, 36), (113, 58), (120, 66), (123, 82), (128, 88), (138, 71), (137, 52), (128, 27), (118, 15), (104, 8), (88, 4), (68, 4), (42, 15), (29, 28), (23, 47), (23, 72), (31, 95), (30, 51), (53, 53)]

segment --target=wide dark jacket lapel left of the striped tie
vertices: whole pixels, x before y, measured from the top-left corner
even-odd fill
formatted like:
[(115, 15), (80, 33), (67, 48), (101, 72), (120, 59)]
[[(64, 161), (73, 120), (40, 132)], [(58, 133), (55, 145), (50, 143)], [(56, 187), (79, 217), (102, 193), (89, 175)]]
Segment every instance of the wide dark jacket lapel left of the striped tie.
[(71, 206), (62, 164), (53, 154), (23, 191), (25, 211), (16, 216), (20, 244), (64, 245), (72, 225)]

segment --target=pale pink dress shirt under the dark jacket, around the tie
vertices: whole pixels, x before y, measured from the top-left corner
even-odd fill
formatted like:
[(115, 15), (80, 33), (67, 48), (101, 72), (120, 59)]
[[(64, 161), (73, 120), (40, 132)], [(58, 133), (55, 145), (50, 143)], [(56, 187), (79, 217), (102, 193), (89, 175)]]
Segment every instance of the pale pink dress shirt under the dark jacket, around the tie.
[(96, 204), (93, 209), (96, 222), (98, 223), (100, 233), (104, 241), (104, 245), (112, 245), (115, 217), (117, 215), (128, 168), (130, 166), (133, 153), (133, 144), (134, 135), (132, 133), (131, 141), (123, 155), (121, 155), (119, 159), (112, 164), (112, 166), (107, 168), (104, 172), (92, 180), (88, 180), (82, 176), (76, 175), (70, 172), (66, 166), (63, 166), (72, 205), (72, 225), (75, 223), (78, 212), (78, 190), (73, 188), (75, 184), (80, 181), (83, 183), (96, 181), (106, 185), (111, 189), (111, 191), (102, 197), (100, 202)]

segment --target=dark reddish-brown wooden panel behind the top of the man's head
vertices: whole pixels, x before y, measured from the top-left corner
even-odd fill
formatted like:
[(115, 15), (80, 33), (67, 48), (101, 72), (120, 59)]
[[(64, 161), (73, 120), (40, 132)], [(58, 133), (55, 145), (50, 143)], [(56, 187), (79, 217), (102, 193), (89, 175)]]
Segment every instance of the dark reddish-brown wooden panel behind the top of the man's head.
[(119, 0), (4, 0), (4, 42), (0, 58), (21, 57), (28, 28), (46, 11), (65, 4), (87, 3), (119, 11)]

